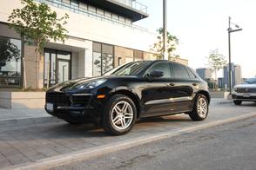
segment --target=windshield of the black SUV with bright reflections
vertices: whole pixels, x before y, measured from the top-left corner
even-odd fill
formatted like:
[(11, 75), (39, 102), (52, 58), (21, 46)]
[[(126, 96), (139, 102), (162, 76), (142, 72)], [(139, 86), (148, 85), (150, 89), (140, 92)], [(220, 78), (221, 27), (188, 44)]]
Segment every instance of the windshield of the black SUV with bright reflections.
[(111, 71), (105, 73), (104, 75), (138, 75), (142, 70), (148, 67), (152, 61), (138, 61), (138, 62), (129, 62), (125, 65), (119, 66), (116, 69), (111, 69)]

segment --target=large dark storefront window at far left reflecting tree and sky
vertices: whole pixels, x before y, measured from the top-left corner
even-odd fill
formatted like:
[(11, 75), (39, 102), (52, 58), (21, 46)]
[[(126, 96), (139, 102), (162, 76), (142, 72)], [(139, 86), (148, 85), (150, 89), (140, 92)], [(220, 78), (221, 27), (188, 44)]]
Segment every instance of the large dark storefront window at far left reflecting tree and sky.
[(0, 36), (0, 87), (21, 85), (21, 40)]

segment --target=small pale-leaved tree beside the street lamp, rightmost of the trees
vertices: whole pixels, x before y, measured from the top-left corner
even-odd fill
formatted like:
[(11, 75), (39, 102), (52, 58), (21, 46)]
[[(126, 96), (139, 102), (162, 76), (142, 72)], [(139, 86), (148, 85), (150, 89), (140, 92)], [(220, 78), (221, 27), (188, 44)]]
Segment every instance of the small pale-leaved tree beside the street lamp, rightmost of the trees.
[(215, 80), (217, 81), (216, 84), (218, 84), (217, 71), (219, 71), (219, 69), (223, 69), (223, 67), (226, 65), (225, 57), (219, 54), (219, 49), (210, 50), (208, 56), (208, 65), (210, 69), (214, 70)]

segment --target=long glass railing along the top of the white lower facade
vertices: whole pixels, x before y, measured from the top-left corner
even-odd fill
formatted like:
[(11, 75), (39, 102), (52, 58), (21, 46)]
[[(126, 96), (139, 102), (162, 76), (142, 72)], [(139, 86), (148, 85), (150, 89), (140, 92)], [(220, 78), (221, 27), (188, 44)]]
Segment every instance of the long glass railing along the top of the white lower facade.
[(145, 29), (143, 27), (139, 27), (139, 26), (131, 24), (131, 23), (125, 23), (125, 22), (122, 22), (118, 19), (112, 18), (110, 16), (104, 16), (102, 14), (98, 14), (96, 12), (92, 12), (92, 11), (87, 10), (85, 8), (79, 7), (77, 5), (72, 5), (71, 3), (64, 3), (64, 2), (58, 1), (58, 0), (36, 0), (36, 1), (39, 2), (39, 3), (50, 4), (51, 6), (57, 7), (59, 9), (70, 10), (71, 12), (81, 14), (81, 15), (84, 15), (84, 16), (88, 16), (88, 17), (91, 17), (91, 18), (94, 18), (94, 19), (98, 19), (100, 21), (104, 21), (104, 22), (107, 22), (107, 23), (117, 24), (117, 25), (123, 26), (125, 28), (147, 31), (147, 29)]

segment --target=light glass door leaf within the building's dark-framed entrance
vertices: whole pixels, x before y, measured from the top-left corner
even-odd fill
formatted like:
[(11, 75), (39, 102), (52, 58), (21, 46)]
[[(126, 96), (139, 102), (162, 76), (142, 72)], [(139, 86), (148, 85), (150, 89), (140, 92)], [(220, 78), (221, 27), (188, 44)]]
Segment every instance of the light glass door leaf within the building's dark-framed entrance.
[(66, 82), (70, 80), (70, 62), (66, 60), (57, 60), (57, 82)]

